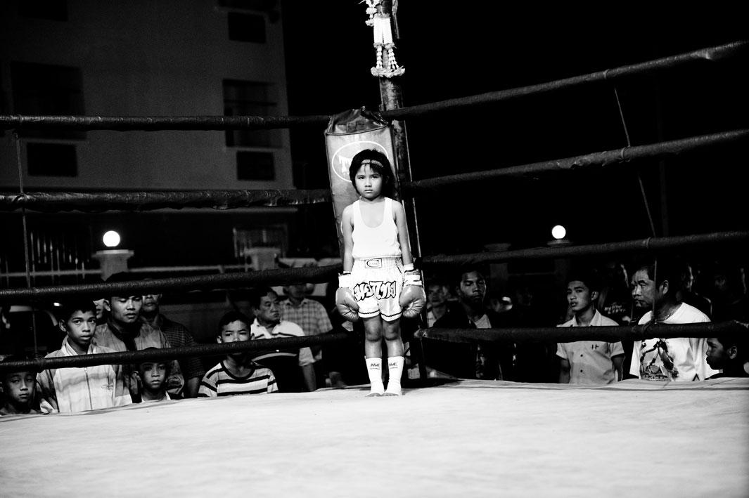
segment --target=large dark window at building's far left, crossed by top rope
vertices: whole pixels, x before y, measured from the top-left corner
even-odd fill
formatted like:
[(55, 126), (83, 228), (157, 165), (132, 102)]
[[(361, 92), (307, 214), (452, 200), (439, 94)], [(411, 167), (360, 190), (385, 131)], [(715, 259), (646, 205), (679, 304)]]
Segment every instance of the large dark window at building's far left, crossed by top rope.
[[(30, 62), (10, 63), (13, 112), (28, 116), (83, 115), (81, 70)], [(85, 132), (70, 129), (20, 129), (32, 138), (86, 138)]]

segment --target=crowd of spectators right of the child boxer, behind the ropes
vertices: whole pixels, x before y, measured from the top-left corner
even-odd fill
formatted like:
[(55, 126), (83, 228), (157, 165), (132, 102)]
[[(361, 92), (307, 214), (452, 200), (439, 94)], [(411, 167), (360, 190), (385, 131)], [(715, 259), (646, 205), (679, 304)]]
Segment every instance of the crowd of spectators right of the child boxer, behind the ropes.
[[(697, 272), (689, 262), (663, 257), (628, 266), (583, 265), (565, 278), (553, 288), (555, 305), (554, 298), (542, 298), (549, 286), (534, 287), (524, 277), (507, 282), (502, 292), (488, 289), (482, 268), (455, 271), (447, 286), (444, 276), (427, 277), (428, 318), (436, 328), (479, 329), (749, 321), (742, 265), (705, 265)], [(749, 375), (748, 341), (733, 335), (637, 342), (423, 342), (428, 373), (435, 377), (608, 384), (626, 378), (701, 381)]]

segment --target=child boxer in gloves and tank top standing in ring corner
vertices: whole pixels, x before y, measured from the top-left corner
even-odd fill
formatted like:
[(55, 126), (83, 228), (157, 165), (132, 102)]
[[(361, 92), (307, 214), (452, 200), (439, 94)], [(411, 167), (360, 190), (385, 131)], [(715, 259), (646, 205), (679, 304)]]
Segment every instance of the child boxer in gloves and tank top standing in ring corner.
[[(403, 341), (400, 319), (418, 316), (426, 296), (419, 271), (413, 269), (403, 205), (393, 200), (394, 178), (383, 153), (363, 150), (349, 168), (359, 200), (343, 210), (343, 274), (336, 305), (345, 319), (362, 319), (364, 356), (371, 390), (367, 396), (400, 396)], [(389, 381), (382, 381), (382, 338)]]

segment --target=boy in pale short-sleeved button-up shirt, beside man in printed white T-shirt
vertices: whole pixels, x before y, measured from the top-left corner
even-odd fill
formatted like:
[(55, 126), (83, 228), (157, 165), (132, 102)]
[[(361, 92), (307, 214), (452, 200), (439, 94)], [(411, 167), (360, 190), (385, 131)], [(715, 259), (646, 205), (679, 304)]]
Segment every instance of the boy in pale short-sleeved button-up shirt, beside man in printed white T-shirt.
[[(589, 274), (571, 277), (567, 302), (573, 316), (559, 327), (616, 327), (612, 319), (598, 313), (598, 280)], [(612, 384), (621, 381), (624, 348), (621, 342), (559, 342), (560, 384)]]

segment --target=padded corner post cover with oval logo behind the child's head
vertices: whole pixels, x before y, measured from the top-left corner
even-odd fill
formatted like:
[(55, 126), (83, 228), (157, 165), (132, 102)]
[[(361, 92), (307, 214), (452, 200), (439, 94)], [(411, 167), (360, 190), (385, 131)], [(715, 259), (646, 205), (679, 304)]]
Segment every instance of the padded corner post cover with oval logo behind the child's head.
[(341, 232), (343, 209), (359, 199), (359, 194), (354, 189), (354, 185), (351, 185), (351, 177), (348, 173), (351, 159), (365, 149), (378, 150), (385, 154), (393, 170), (395, 195), (398, 199), (400, 198), (392, 129), (389, 123), (377, 115), (364, 109), (352, 109), (330, 118), (325, 132), (325, 147), (330, 176), (330, 194), (336, 215), (336, 233), (338, 233), (339, 250), (343, 257), (343, 234)]

